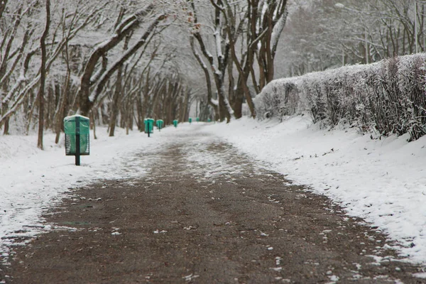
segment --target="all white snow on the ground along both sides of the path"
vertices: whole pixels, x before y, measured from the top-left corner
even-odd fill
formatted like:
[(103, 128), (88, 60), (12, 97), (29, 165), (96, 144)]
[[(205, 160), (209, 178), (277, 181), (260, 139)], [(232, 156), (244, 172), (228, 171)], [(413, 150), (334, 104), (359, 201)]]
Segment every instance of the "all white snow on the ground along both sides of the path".
[[(192, 129), (179, 124), (148, 138), (138, 131), (126, 135), (123, 129), (108, 137), (106, 129), (98, 128), (98, 139), (91, 133), (91, 153), (82, 156), (80, 167), (73, 156), (65, 156), (63, 141), (53, 143), (53, 133), (45, 135), (44, 151), (36, 148), (35, 135), (0, 136), (0, 253), (8, 255), (12, 236), (50, 229), (40, 216), (70, 188), (141, 177), (155, 163), (155, 155), (144, 153), (174, 143), (173, 131)], [(320, 129), (307, 115), (281, 123), (246, 117), (202, 129), (289, 180), (327, 195), (349, 216), (364, 218), (398, 241), (395, 249), (409, 261), (426, 263), (426, 137), (410, 143), (408, 136), (371, 139), (356, 129)], [(214, 179), (214, 174), (202, 178)]]

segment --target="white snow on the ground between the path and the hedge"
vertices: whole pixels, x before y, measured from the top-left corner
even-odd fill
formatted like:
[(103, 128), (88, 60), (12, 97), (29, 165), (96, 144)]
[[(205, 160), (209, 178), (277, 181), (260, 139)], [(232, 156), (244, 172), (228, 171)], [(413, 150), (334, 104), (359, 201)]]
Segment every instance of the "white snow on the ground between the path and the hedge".
[(205, 130), (331, 197), (399, 241), (401, 255), (426, 263), (426, 136), (371, 139), (356, 129), (320, 129), (308, 115), (282, 123), (243, 118)]

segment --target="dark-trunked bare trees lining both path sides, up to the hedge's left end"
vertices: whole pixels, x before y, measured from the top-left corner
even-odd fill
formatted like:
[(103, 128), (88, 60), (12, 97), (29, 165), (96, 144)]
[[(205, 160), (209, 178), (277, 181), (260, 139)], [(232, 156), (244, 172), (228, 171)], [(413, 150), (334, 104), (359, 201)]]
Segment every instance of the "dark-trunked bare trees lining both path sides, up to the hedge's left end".
[(43, 148), (68, 114), (110, 136), (185, 121), (195, 101), (202, 119), (239, 118), (244, 101), (255, 117), (286, 16), (285, 0), (2, 1), (1, 130), (38, 129)]

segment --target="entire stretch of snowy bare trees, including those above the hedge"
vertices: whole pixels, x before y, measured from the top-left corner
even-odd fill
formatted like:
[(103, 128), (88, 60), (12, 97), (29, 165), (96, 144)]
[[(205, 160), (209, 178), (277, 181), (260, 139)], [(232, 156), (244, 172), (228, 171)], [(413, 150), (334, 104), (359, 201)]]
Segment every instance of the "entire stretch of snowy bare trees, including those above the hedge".
[(0, 130), (256, 117), (277, 77), (426, 49), (420, 0), (4, 0)]

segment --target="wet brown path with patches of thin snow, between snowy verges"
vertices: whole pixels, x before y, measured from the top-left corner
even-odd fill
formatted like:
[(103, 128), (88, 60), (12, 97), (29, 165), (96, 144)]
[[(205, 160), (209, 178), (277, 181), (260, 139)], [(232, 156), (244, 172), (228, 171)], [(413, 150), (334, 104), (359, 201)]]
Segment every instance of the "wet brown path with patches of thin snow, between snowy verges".
[(424, 283), (326, 197), (200, 131), (170, 141), (135, 155), (152, 160), (148, 175), (72, 190), (45, 214), (56, 229), (15, 247), (0, 280)]

